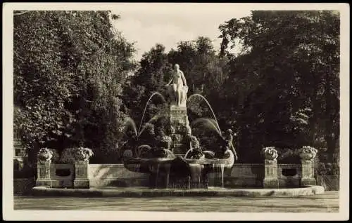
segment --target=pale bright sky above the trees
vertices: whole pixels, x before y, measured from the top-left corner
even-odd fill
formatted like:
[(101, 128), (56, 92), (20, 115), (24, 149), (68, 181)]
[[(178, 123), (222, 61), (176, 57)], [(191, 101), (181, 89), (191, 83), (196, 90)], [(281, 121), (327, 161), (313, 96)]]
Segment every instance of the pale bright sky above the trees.
[(234, 4), (120, 4), (111, 8), (120, 15), (113, 26), (128, 41), (135, 42), (135, 59), (142, 58), (156, 43), (168, 51), (180, 41), (190, 41), (198, 36), (213, 40), (220, 48), (219, 25), (232, 18), (250, 15), (251, 8), (238, 8)]

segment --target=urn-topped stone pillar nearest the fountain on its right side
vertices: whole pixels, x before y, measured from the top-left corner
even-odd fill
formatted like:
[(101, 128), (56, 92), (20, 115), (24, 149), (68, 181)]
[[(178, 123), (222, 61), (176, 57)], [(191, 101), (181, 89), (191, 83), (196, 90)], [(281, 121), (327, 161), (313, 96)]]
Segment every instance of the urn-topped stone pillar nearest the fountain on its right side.
[(279, 187), (279, 179), (277, 177), (277, 150), (275, 147), (265, 147), (262, 150), (264, 155), (264, 188)]

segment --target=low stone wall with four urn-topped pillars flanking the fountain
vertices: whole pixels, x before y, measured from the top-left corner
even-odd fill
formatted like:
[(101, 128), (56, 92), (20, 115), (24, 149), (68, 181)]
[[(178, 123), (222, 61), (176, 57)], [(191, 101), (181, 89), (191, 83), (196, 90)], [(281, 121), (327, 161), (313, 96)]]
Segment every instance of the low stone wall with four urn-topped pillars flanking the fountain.
[[(262, 150), (263, 164), (238, 163), (229, 171), (225, 171), (225, 187), (304, 187), (315, 185), (314, 161), (317, 151), (312, 147), (298, 150), (301, 164), (277, 163), (275, 147)], [(37, 186), (89, 188), (115, 186), (146, 186), (148, 174), (133, 173), (122, 164), (89, 164), (89, 151), (77, 152), (72, 164), (58, 164), (52, 161), (49, 149), (42, 149), (37, 161)], [(68, 177), (56, 176), (58, 169), (69, 169)], [(210, 173), (209, 186), (215, 185), (216, 173)], [(290, 186), (291, 185), (291, 186)]]

